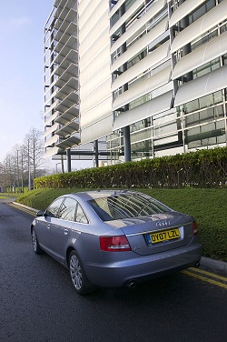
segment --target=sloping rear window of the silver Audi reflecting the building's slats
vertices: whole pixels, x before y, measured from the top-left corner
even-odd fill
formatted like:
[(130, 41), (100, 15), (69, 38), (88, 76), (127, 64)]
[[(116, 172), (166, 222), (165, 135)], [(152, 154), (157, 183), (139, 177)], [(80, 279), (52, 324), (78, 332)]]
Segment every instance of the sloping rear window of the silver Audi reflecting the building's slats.
[(170, 211), (170, 208), (143, 194), (115, 195), (88, 201), (103, 221), (137, 216), (150, 216)]

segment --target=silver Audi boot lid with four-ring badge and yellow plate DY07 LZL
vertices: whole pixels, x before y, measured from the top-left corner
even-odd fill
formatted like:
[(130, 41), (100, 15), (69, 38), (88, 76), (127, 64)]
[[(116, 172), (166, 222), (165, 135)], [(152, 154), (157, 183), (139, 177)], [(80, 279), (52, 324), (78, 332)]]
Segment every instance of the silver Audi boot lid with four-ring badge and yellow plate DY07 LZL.
[(174, 211), (109, 221), (108, 224), (121, 228), (132, 250), (139, 255), (186, 246), (193, 237), (192, 216)]

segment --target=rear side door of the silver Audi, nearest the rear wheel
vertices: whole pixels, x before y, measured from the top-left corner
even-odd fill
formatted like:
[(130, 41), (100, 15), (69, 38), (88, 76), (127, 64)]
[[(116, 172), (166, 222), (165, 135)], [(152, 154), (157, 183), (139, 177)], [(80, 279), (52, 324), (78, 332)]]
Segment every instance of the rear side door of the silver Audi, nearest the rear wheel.
[(76, 206), (77, 201), (74, 198), (65, 196), (58, 217), (52, 220), (51, 250), (53, 257), (61, 263), (65, 261), (67, 241), (74, 225)]

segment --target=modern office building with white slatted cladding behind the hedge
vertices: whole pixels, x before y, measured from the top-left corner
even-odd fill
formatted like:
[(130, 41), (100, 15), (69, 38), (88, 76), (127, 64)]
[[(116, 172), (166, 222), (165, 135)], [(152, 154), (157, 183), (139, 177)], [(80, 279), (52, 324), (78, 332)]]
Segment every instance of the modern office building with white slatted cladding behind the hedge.
[(226, 31), (227, 0), (55, 0), (46, 155), (111, 165), (226, 146)]

